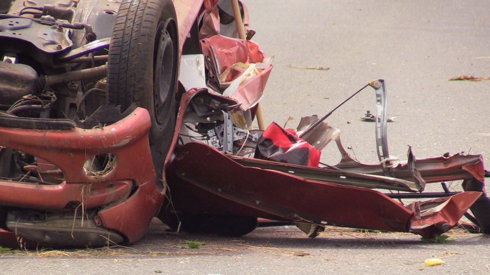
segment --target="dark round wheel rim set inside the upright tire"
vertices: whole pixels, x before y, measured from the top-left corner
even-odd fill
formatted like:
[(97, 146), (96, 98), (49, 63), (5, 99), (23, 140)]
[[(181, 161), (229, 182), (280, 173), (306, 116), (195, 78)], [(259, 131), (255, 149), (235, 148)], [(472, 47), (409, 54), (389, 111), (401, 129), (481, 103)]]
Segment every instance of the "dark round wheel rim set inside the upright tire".
[(153, 102), (155, 119), (159, 124), (166, 121), (175, 79), (174, 43), (168, 24), (166, 26), (164, 28), (163, 22), (158, 24), (155, 52)]

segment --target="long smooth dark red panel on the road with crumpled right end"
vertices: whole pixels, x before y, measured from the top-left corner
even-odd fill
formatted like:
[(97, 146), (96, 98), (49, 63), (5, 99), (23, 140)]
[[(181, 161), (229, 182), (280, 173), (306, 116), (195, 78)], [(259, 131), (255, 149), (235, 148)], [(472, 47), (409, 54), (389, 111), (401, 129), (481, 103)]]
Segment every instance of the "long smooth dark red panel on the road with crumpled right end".
[[(434, 226), (440, 227), (431, 225), (440, 223), (441, 219), (432, 222), (422, 214), (417, 217), (414, 210), (379, 191), (309, 180), (271, 169), (245, 167), (196, 142), (187, 143), (179, 150), (166, 174), (172, 182), (170, 188), (177, 211), (253, 215), (402, 232), (410, 231), (410, 225), (417, 222), (429, 224), (426, 226), (428, 229), (416, 228), (417, 233), (423, 235), (434, 232)], [(240, 176), (236, 177), (237, 174)], [(425, 212), (449, 216), (443, 220), (458, 220), (480, 195), (481, 192), (464, 192), (451, 196), (450, 200), (460, 205), (458, 211), (444, 210), (452, 205), (448, 202), (443, 203), (448, 206), (437, 205)], [(447, 230), (451, 224), (439, 229)]]

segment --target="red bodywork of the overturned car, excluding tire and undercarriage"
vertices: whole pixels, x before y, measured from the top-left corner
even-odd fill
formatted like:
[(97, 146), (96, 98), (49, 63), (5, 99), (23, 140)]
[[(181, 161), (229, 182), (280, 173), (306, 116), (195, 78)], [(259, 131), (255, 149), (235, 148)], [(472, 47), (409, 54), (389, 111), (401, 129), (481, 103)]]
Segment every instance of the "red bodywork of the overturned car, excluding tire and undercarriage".
[[(471, 209), (473, 221), (484, 232), (490, 232), (490, 201), (484, 192), (484, 167), (479, 155), (425, 159), (412, 155), (407, 162), (368, 165), (350, 158), (337, 134), (326, 142), (337, 142), (342, 161), (324, 168), (312, 167), (311, 162), (310, 165), (279, 162), (273, 156), (239, 155), (242, 148), (261, 144), (261, 140), (248, 141), (251, 130), (247, 129), (250, 126), (247, 117), (256, 116), (272, 64), (258, 44), (221, 34), (221, 10), (217, 4), (217, 0), (174, 1), (179, 60), (189, 33), (194, 35), (193, 27), (197, 26), (207, 84), (218, 76), (225, 81), (214, 82), (224, 90), (222, 93), (211, 91), (209, 86), (179, 89), (170, 149), (160, 156), (165, 159), (160, 171), (163, 184), (155, 181), (154, 156), (148, 138), (152, 122), (144, 108), (133, 108), (115, 123), (89, 128), (40, 129), (2, 124), (3, 149), (36, 156), (36, 164), (25, 165), (23, 169), (42, 180), (51, 178), (55, 183), (0, 179), (0, 245), (17, 245), (19, 237), (29, 243), (62, 246), (134, 242), (144, 235), (154, 216), (172, 227), (182, 225), (184, 230), (186, 226), (197, 226), (191, 231), (206, 231), (203, 229), (206, 221), (221, 227), (227, 224), (229, 228), (224, 227), (230, 231), (220, 231), (224, 234), (247, 233), (257, 225), (254, 220), (257, 222), (262, 217), (309, 223), (312, 228), (351, 226), (430, 237), (456, 225)], [(248, 27), (247, 9), (243, 5), (242, 10)], [(253, 34), (250, 30), (248, 33)], [(239, 70), (236, 64), (243, 64), (242, 68), (246, 69)], [(251, 74), (244, 75), (246, 72)], [(233, 81), (237, 87), (226, 91)], [(223, 82), (227, 83), (224, 87)], [(204, 104), (208, 112), (198, 114), (199, 104)], [(222, 144), (226, 138), (215, 143), (220, 144), (216, 146), (209, 144), (209, 138), (201, 142), (196, 136), (183, 141), (181, 138), (186, 133), (182, 130), (188, 128), (185, 123), (190, 119), (189, 113), (198, 114), (195, 121), (210, 118), (216, 125), (223, 123), (222, 127), (226, 127), (226, 117), (233, 117), (229, 118), (234, 121), (230, 126), (233, 130), (240, 128), (241, 119), (246, 121), (241, 123), (241, 128), (247, 136), (228, 140), (231, 144), (228, 150)], [(206, 128), (207, 133), (202, 136), (212, 137), (209, 130), (216, 127), (213, 124), (213, 128)], [(260, 131), (259, 137), (261, 134)], [(280, 136), (272, 134), (270, 139), (276, 146), (274, 153), (283, 154), (285, 147), (278, 141)], [(294, 144), (307, 139), (297, 136), (290, 140)], [(310, 143), (314, 146), (314, 142)], [(293, 155), (298, 156), (296, 152)], [(94, 156), (108, 156), (111, 160), (102, 165), (103, 169), (88, 171), (87, 161), (93, 161)], [(299, 156), (304, 157), (301, 153)], [(463, 180), (464, 191), (421, 192), (425, 183), (447, 180)], [(383, 193), (379, 188), (403, 191), (399, 197), (435, 198), (403, 205), (395, 200), (396, 194)], [(17, 209), (32, 209), (43, 213), (43, 217), (37, 223), (32, 222)], [(73, 214), (61, 217), (56, 214), (60, 211)], [(221, 219), (216, 221), (216, 217)], [(236, 226), (230, 225), (236, 218), (246, 218), (243, 223), (237, 223), (245, 228), (238, 230), (239, 233), (233, 231)], [(66, 219), (73, 222), (59, 223)], [(44, 225), (39, 227), (39, 224)]]

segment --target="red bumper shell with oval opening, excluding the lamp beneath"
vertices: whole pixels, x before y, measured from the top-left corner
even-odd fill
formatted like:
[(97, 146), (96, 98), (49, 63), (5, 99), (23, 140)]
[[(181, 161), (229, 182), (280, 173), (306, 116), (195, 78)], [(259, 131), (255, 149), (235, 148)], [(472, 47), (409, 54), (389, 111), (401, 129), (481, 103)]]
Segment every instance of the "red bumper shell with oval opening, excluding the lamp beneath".
[[(101, 209), (95, 217), (99, 225), (120, 232), (130, 242), (138, 240), (161, 207), (165, 191), (159, 190), (154, 181), (148, 146), (150, 125), (147, 110), (137, 108), (101, 128), (0, 127), (0, 145), (44, 159), (56, 165), (63, 175), (60, 184), (0, 180), (0, 218), (5, 219), (7, 207), (54, 211), (80, 205)], [(87, 172), (87, 159), (101, 154), (115, 155), (110, 170), (100, 174)], [(3, 222), (0, 220), (0, 224)]]

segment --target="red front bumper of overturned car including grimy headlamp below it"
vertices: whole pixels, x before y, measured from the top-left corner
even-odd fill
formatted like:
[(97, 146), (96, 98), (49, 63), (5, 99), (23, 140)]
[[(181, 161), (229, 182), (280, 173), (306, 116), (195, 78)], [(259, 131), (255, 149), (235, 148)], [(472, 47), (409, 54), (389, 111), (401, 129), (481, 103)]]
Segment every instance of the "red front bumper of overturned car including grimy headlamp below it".
[[(0, 127), (1, 146), (37, 157), (36, 163), (24, 169), (40, 179), (39, 182), (24, 182), (25, 178), (0, 180), (2, 236), (8, 235), (9, 230), (17, 231), (26, 239), (56, 245), (60, 241), (53, 241), (49, 233), (32, 233), (35, 227), (39, 227), (38, 231), (58, 230), (73, 235), (73, 227), (80, 225), (79, 239), (72, 240), (74, 245), (98, 245), (100, 241), (107, 242), (104, 238), (111, 238), (111, 234), (130, 242), (141, 238), (161, 207), (165, 191), (155, 184), (148, 145), (150, 125), (148, 111), (136, 108), (114, 124), (91, 129)], [(92, 162), (97, 157), (109, 157), (110, 161), (93, 169)], [(43, 176), (45, 180), (56, 178), (61, 183), (43, 182)], [(35, 211), (36, 215), (28, 211)], [(7, 220), (7, 212), (16, 220)], [(66, 215), (54, 218), (50, 212)], [(82, 219), (79, 225), (75, 222), (77, 215)], [(33, 216), (36, 216), (34, 221)], [(72, 222), (61, 221), (68, 218)], [(105, 232), (104, 238), (83, 240), (87, 237), (83, 233), (84, 218), (93, 221), (92, 225), (85, 222), (85, 226)], [(0, 245), (4, 240), (0, 238)]]

